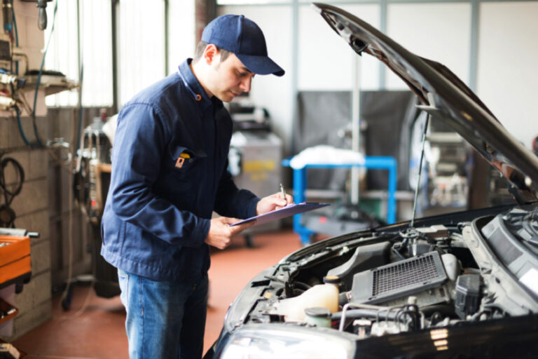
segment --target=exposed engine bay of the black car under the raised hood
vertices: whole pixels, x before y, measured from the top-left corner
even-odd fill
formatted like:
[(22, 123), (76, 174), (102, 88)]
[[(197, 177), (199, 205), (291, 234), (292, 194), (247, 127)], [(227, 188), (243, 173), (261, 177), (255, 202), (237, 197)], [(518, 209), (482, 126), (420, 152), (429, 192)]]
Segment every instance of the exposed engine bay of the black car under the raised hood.
[(366, 339), (537, 313), (537, 238), (533, 207), (351, 233), (256, 277), (250, 299), (257, 299), (241, 321), (330, 327)]

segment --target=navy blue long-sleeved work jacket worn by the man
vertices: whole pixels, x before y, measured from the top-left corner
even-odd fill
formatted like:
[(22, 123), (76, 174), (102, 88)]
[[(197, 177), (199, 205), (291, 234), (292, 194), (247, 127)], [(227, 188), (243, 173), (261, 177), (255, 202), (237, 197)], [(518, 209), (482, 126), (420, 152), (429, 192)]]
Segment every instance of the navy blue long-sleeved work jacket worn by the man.
[(190, 61), (127, 102), (114, 136), (101, 254), (153, 280), (205, 276), (212, 211), (244, 219), (260, 199), (235, 187), (227, 170), (230, 114), (207, 97)]

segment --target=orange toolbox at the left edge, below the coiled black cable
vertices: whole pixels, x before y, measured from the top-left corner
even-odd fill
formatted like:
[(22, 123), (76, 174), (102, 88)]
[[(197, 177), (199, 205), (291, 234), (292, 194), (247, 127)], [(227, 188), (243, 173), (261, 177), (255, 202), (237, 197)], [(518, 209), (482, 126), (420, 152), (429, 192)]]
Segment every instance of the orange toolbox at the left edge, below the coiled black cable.
[(30, 238), (0, 235), (0, 288), (27, 282), (31, 275)]

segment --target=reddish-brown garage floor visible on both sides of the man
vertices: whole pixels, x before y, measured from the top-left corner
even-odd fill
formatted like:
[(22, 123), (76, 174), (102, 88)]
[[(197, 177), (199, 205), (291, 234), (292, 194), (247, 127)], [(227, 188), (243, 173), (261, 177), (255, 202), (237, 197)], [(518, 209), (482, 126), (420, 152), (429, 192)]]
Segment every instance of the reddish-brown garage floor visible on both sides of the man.
[[(242, 287), (258, 272), (299, 248), (296, 233), (285, 230), (254, 236), (254, 248), (247, 248), (239, 236), (226, 250), (212, 252), (204, 353), (219, 336), (228, 305)], [(80, 311), (85, 301), (85, 310)], [(125, 310), (119, 297), (99, 298), (90, 287), (78, 286), (69, 312), (62, 311), (56, 295), (53, 320), (13, 344), (31, 359), (128, 358), (124, 322)]]

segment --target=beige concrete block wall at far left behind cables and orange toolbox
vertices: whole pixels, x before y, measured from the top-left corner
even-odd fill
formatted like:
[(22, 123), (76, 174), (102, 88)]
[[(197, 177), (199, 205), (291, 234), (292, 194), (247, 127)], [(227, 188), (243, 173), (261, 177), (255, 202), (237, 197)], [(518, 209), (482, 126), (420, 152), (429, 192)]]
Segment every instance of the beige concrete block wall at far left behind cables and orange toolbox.
[[(39, 68), (44, 40), (43, 32), (37, 27), (38, 11), (34, 3), (24, 3), (18, 0), (13, 3), (20, 49), (27, 53), (28, 67)], [(20, 63), (20, 69), (24, 69), (25, 66), (24, 62)], [(27, 97), (33, 97), (33, 91), (26, 89), (26, 92)], [(43, 141), (51, 135), (44, 98), (40, 90), (36, 103), (38, 115), (36, 127)], [(20, 125), (27, 141), (36, 142), (32, 118), (25, 112), (20, 118)], [(50, 156), (42, 147), (27, 146), (20, 133), (15, 111), (0, 111), (0, 156), (15, 159), (25, 172), (22, 191), (13, 198), (11, 203), (11, 209), (16, 215), (15, 227), (39, 233), (39, 238), (31, 239), (32, 278), (23, 286), (22, 292), (10, 296), (13, 304), (19, 309), (18, 316), (13, 322), (8, 323), (11, 325), (11, 330), (3, 332), (3, 339), (11, 341), (52, 317), (48, 179)], [(8, 185), (17, 180), (11, 165), (6, 168), (4, 174)], [(0, 203), (4, 203), (3, 196)]]

